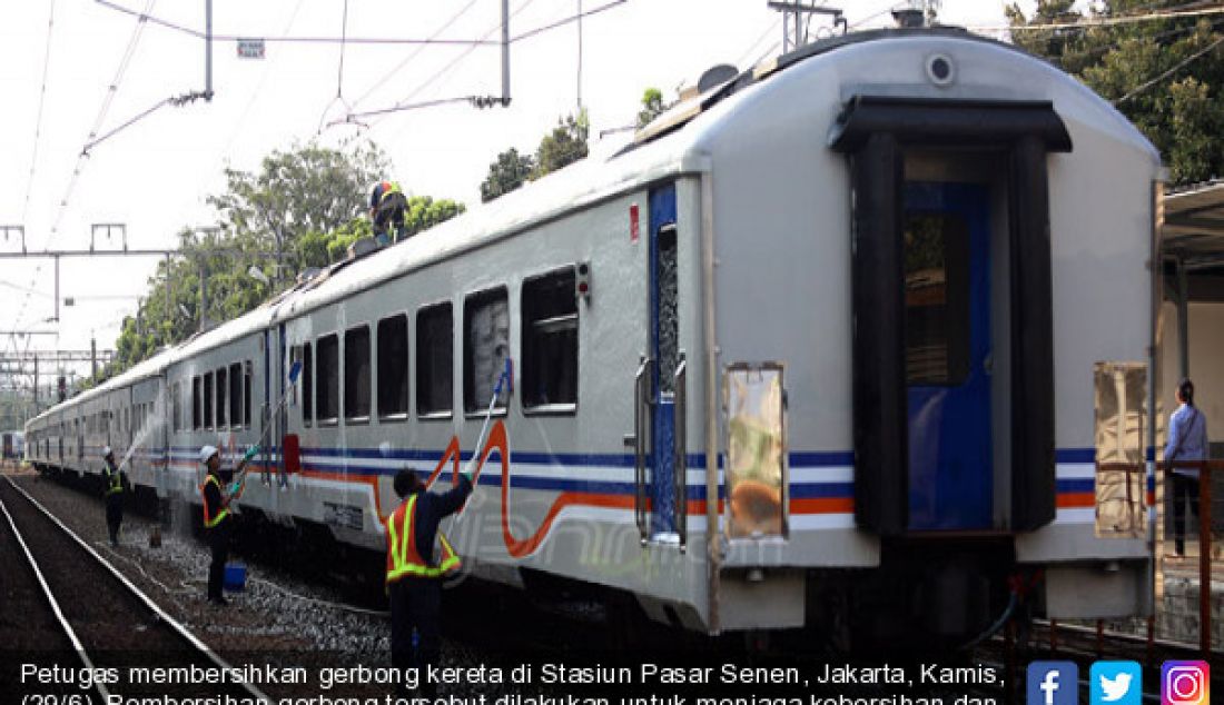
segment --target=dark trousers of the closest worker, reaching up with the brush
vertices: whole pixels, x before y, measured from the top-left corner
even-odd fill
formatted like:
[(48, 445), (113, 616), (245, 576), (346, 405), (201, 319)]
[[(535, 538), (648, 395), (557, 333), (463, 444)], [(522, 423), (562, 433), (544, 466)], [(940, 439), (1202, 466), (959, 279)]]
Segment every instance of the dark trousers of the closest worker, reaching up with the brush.
[[(416, 644), (412, 644), (412, 632)], [(390, 584), (390, 663), (398, 670), (415, 667), (421, 677), (419, 694), (437, 695), (426, 683), (430, 666), (442, 651), (442, 580), (401, 578)]]

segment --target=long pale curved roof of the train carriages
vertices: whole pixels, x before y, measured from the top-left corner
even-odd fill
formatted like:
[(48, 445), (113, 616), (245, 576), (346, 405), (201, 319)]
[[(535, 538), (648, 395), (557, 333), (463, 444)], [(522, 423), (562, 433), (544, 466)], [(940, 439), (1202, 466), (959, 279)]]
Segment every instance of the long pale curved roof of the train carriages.
[[(1078, 111), (1081, 122), (1091, 121), (1094, 130), (1109, 132), (1119, 141), (1147, 151), (1159, 164), (1155, 148), (1109, 103), (1075, 78), (1013, 45), (974, 35), (963, 29), (944, 27), (878, 29), (834, 37), (739, 72), (712, 86), (660, 116), (639, 131), (633, 143), (610, 157), (589, 157), (496, 201), (475, 207), (405, 242), (356, 261), (334, 264), (318, 277), (278, 295), (258, 308), (168, 348), (105, 383), (81, 393), (66, 404), (87, 401), (110, 390), (155, 377), (168, 367), (201, 352), (349, 297), (408, 272), (557, 219), (568, 212), (682, 174), (707, 171), (710, 169), (707, 149), (712, 136), (717, 136), (722, 130), (733, 129), (728, 125), (734, 124), (737, 109), (750, 105), (752, 97), (777, 83), (777, 77), (789, 75), (798, 66), (808, 66), (812, 71), (834, 71), (836, 64), (830, 66), (824, 64), (837, 61), (842, 50), (848, 49), (845, 54), (849, 59), (848, 55), (856, 54), (853, 49), (860, 49), (869, 43), (914, 39), (942, 39), (965, 43), (966, 48), (979, 47), (995, 55), (996, 60), (1005, 60), (1009, 55), (1015, 56), (1031, 70), (1042, 72), (1051, 82), (1070, 87), (1071, 94), (1076, 95), (1076, 105), (1055, 105), (1060, 114), (1064, 109)], [(841, 98), (848, 100), (851, 95), (843, 94)], [(53, 406), (32, 422), (43, 420), (64, 406), (65, 404)]]

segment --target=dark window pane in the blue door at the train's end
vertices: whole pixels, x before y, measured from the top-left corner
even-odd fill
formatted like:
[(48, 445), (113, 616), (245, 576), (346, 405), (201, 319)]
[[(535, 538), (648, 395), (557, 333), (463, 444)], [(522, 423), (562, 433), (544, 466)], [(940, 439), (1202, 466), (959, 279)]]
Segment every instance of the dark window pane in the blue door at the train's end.
[(965, 218), (908, 213), (905, 277), (908, 383), (963, 383), (969, 373), (969, 231)]

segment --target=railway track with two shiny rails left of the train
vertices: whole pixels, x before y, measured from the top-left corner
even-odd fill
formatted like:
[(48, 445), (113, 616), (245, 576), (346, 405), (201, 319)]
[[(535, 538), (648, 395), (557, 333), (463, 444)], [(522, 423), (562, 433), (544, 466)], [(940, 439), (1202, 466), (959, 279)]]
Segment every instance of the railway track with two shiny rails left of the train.
[[(6, 600), (0, 610), (16, 630), (22, 630), (20, 623), (24, 632), (42, 635), (39, 643), (15, 649), (28, 661), (7, 667), (16, 670), (5, 676), (13, 688), (10, 693), (88, 694), (92, 703), (163, 695), (272, 701), (255, 685), (234, 682), (230, 677), (240, 668), (171, 618), (9, 477), (0, 482), (0, 556), (12, 565), (9, 574), (21, 573), (16, 563), (29, 568), (22, 578), (12, 578), (22, 601)], [(23, 613), (15, 614), (18, 608)], [(202, 683), (212, 679), (206, 673), (223, 674), (223, 682)]]

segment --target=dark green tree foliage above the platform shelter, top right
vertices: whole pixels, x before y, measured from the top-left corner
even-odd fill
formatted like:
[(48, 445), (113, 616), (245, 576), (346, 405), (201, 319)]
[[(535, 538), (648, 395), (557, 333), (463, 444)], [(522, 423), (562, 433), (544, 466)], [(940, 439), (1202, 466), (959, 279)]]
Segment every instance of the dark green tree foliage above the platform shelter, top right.
[[(1168, 0), (1104, 0), (1092, 18), (1160, 12)], [(1072, 0), (1040, 0), (1026, 17), (1006, 9), (1015, 43), (1075, 75), (1129, 118), (1160, 151), (1175, 184), (1224, 173), (1224, 39), (1219, 18), (1180, 17), (1113, 26), (1021, 29), (1086, 20)]]

